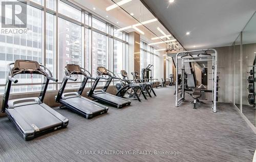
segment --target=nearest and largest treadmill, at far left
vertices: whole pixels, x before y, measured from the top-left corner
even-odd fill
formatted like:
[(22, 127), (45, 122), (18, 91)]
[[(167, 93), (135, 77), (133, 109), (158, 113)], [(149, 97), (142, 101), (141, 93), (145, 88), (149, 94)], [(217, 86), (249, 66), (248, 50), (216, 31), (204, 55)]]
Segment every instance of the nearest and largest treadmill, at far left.
[[(14, 67), (11, 68), (11, 65)], [(44, 98), (49, 81), (57, 82), (52, 78), (50, 70), (36, 61), (16, 60), (8, 64), (9, 77), (5, 86), (2, 112), (5, 112), (16, 128), (22, 133), (25, 140), (68, 126), (69, 120), (60, 113), (44, 104)], [(46, 72), (48, 71), (48, 73)], [(39, 97), (9, 100), (11, 83), (17, 83), (14, 78), (18, 74), (39, 74), (45, 77)]]

